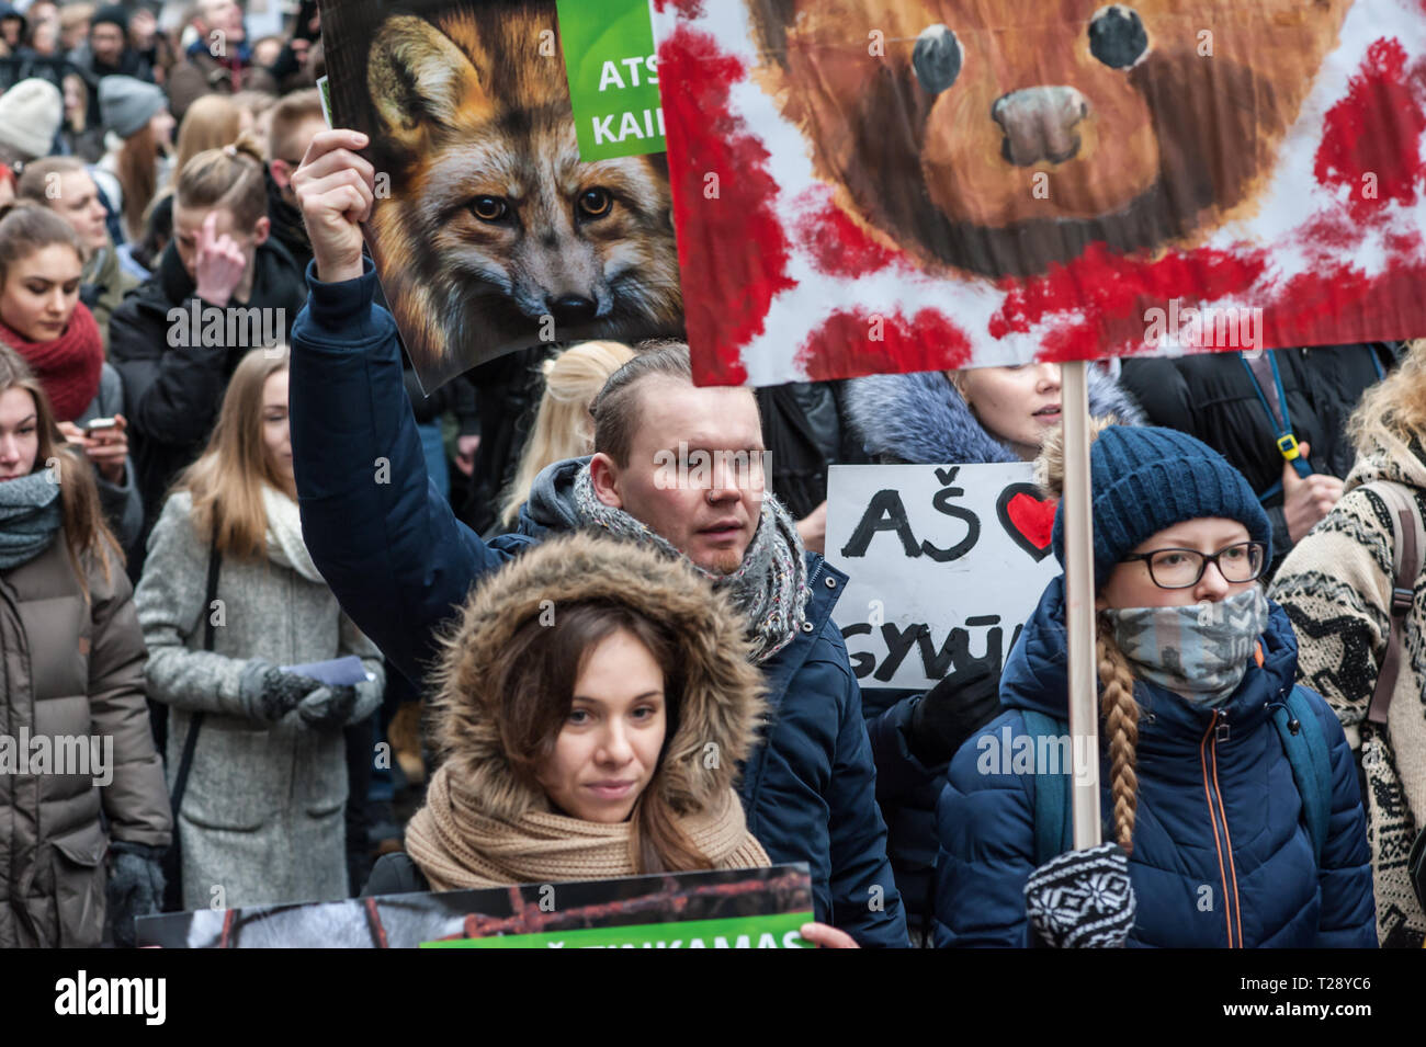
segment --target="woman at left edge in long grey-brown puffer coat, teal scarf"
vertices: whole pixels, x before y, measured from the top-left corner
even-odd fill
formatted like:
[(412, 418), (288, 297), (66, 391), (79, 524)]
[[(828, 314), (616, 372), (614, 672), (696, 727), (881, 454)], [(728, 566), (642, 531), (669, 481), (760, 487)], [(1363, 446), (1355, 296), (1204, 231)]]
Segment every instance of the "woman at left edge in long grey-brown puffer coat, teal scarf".
[(134, 944), (158, 912), (173, 819), (144, 658), (93, 472), (0, 345), (0, 949), (96, 947), (107, 926)]

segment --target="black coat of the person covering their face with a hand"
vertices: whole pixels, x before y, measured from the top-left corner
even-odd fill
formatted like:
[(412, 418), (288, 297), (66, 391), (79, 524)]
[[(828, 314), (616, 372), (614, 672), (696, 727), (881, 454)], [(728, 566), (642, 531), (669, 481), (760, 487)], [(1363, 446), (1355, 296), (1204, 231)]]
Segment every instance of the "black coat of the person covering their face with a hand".
[[(285, 342), (307, 301), (307, 282), (292, 256), (272, 239), (258, 248), (255, 265), (250, 301), (230, 302), (224, 316), (234, 309), (274, 311), (264, 313), (265, 323), (281, 329), (278, 340)], [(238, 336), (234, 345), (227, 345), (225, 336), (217, 345), (185, 345), (191, 340), (188, 316), (193, 302), (198, 302), (200, 311), (212, 308), (195, 295), (194, 283), (170, 244), (158, 261), (158, 271), (125, 298), (110, 319), (110, 362), (124, 379), (124, 413), (128, 416), (138, 491), (144, 500), (140, 547), (147, 544), (168, 487), (180, 470), (202, 452), (238, 360), (258, 345), (247, 336), (252, 328), (245, 319), (231, 325)], [(183, 319), (175, 318), (175, 323), (168, 319), (173, 309), (184, 313)], [(285, 312), (277, 313), (277, 309)], [(227, 335), (227, 319), (222, 326)], [(170, 338), (174, 340), (170, 342)], [(130, 573), (137, 575), (138, 564), (130, 564)]]

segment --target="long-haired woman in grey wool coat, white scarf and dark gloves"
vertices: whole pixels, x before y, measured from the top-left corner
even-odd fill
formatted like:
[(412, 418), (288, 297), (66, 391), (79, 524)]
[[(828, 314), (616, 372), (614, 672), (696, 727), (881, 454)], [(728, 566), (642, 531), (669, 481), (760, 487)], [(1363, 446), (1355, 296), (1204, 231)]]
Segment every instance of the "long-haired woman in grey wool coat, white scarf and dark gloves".
[[(185, 909), (348, 896), (342, 728), (381, 704), (385, 671), (302, 543), (287, 373), (285, 346), (238, 363), (134, 594), (148, 694), (170, 707), (174, 793), (190, 764), (175, 802)], [(365, 679), (327, 685), (281, 668), (344, 655), (361, 658)]]

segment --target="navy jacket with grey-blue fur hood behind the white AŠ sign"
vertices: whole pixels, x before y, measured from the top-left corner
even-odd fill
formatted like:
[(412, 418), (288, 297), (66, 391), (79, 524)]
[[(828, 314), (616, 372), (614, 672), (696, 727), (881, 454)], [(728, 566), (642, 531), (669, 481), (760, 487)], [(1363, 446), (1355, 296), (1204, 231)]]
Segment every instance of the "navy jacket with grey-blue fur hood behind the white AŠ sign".
[[(846, 403), (853, 432), (878, 462), (1020, 462), (980, 423), (940, 370), (854, 379), (846, 386)], [(1144, 420), (1134, 400), (1098, 368), (1089, 368), (1089, 413), (1115, 415), (1135, 426)], [(913, 927), (925, 926), (935, 912), (935, 801), (945, 781), (944, 761), (927, 765), (911, 751), (911, 717), (921, 694), (861, 687), (861, 711), (877, 764), (877, 802), (887, 819), (887, 852)]]

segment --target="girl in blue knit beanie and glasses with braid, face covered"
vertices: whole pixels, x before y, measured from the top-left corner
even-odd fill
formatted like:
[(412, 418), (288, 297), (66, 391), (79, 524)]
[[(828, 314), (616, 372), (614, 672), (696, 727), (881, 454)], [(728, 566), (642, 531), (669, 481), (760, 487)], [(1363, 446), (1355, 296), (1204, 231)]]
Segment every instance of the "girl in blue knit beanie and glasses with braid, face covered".
[[(937, 806), (937, 944), (1375, 947), (1352, 752), (1320, 695), (1293, 691), (1298, 641), (1262, 584), (1268, 516), (1242, 474), (1185, 433), (1095, 430), (1107, 842), (1037, 855), (1048, 835), (1038, 788), (1048, 795), (1050, 778), (1068, 773), (1051, 754), (1068, 761), (1078, 741), (1032, 729), (1068, 721), (1061, 575), (1005, 662), (1005, 712), (951, 761)], [(1037, 476), (1045, 494), (1061, 496), (1060, 434)], [(1062, 503), (1052, 541), (1064, 563)], [(1299, 789), (1279, 709), (1293, 734), (1315, 732), (1329, 765), (1319, 795)], [(1316, 829), (1312, 812), (1322, 815)]]

